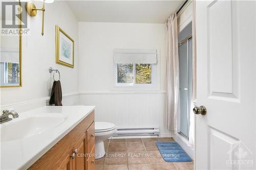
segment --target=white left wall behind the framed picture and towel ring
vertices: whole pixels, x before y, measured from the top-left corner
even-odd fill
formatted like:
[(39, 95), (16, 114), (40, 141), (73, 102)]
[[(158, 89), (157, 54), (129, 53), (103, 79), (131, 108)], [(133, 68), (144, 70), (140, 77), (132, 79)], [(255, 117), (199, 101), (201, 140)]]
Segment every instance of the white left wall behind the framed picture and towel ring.
[[(41, 8), (42, 3), (35, 1), (35, 5)], [(52, 4), (46, 4), (45, 8), (44, 36), (41, 36), (42, 13), (38, 11), (37, 16), (28, 16), (30, 35), (23, 36), (22, 47), (23, 87), (1, 88), (1, 107), (34, 103), (35, 101), (40, 101), (40, 104), (36, 104), (36, 106), (45, 105), (53, 83), (52, 75), (48, 72), (50, 66), (60, 71), (63, 102), (65, 103), (70, 94), (72, 94), (72, 98), (74, 95), (78, 95), (78, 21), (66, 2), (55, 1)], [(74, 68), (55, 63), (55, 25), (58, 25), (75, 41)], [(79, 96), (75, 98), (79, 98)], [(68, 99), (67, 101), (66, 104), (73, 103)]]

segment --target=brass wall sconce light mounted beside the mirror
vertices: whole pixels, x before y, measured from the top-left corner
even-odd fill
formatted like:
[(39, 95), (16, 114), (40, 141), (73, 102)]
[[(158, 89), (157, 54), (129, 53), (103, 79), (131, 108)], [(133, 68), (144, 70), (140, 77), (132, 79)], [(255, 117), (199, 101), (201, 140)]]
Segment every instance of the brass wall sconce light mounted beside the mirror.
[(42, 33), (41, 35), (44, 36), (44, 23), (45, 23), (45, 3), (53, 3), (54, 0), (40, 0), (42, 1), (42, 8), (36, 8), (35, 4), (33, 4), (32, 2), (27, 2), (25, 4), (25, 8), (27, 13), (30, 16), (36, 16), (37, 11), (42, 11)]

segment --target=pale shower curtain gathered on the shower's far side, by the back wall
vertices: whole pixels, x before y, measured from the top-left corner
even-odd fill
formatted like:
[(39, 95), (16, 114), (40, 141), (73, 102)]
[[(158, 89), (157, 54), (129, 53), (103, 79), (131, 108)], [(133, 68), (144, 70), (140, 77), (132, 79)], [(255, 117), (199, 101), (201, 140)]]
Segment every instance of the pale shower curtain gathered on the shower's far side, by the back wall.
[(167, 22), (166, 92), (167, 92), (167, 129), (179, 132), (179, 56), (177, 15), (172, 14)]

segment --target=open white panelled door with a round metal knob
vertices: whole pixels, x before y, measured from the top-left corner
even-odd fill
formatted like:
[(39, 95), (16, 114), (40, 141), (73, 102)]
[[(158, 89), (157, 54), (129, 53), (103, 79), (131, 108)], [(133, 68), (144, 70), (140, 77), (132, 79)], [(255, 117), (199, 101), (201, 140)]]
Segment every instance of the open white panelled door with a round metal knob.
[(197, 1), (196, 169), (255, 168), (255, 1)]

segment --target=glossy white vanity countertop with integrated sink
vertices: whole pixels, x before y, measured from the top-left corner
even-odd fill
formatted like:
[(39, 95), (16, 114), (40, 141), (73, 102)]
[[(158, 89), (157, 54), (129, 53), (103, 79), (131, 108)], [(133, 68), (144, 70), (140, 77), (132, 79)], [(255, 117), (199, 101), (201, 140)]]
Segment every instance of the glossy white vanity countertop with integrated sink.
[(94, 108), (45, 106), (1, 124), (1, 169), (29, 168)]

